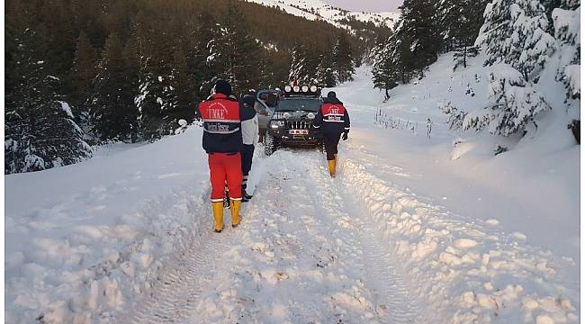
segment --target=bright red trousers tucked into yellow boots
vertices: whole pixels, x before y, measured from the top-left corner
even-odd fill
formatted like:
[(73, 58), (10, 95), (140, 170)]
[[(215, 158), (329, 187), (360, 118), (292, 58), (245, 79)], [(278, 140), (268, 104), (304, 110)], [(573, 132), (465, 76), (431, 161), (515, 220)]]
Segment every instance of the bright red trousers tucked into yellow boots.
[(211, 153), (208, 156), (211, 175), (211, 202), (223, 202), (225, 184), (229, 198), (242, 199), (242, 157), (239, 153)]

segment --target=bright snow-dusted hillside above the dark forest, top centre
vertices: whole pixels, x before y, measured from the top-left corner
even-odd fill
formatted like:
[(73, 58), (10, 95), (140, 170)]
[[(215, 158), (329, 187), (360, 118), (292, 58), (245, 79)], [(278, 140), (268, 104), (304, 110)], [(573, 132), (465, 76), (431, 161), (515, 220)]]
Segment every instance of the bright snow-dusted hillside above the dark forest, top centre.
[(309, 20), (323, 20), (339, 27), (348, 28), (344, 23), (345, 19), (354, 18), (361, 22), (372, 22), (378, 26), (388, 26), (392, 28), (400, 17), (398, 13), (357, 13), (350, 12), (331, 4), (326, 4), (321, 0), (247, 0), (266, 6), (276, 6), (289, 14), (304, 17)]

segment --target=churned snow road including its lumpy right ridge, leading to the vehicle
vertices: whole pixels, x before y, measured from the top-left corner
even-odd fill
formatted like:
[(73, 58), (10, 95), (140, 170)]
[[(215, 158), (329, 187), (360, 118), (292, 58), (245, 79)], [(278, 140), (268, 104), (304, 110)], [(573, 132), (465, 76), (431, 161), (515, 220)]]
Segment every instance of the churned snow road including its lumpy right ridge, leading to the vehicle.
[[(349, 152), (353, 149), (353, 152)], [(558, 269), (568, 266), (470, 222), (383, 174), (408, 175), (344, 146), (338, 178), (322, 154), (257, 155), (243, 225), (193, 238), (135, 323), (546, 323), (578, 320)], [(204, 218), (210, 213), (202, 206)], [(229, 222), (229, 212), (226, 220)], [(211, 217), (206, 227), (211, 228)], [(550, 292), (555, 292), (550, 294)]]

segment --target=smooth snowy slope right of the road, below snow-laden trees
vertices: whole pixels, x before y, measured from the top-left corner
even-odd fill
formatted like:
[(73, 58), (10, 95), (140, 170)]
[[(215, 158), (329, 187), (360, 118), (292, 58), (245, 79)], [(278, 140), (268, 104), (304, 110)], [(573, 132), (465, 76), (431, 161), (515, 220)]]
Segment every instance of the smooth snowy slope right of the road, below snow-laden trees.
[[(578, 116), (578, 106), (567, 109), (563, 85), (552, 81), (553, 70), (546, 70), (537, 88), (553, 110), (538, 121), (536, 131), (518, 139), (449, 130), (441, 104), (453, 103), (464, 112), (489, 104), (490, 70), (482, 61), (470, 59), (468, 68), (453, 72), (452, 55), (443, 55), (425, 78), (392, 89), (385, 103), (372, 88), (367, 67), (360, 67), (355, 82), (335, 89), (352, 116), (350, 138), (355, 140), (347, 152), (395, 169), (398, 176), (385, 180), (416, 188), (472, 220), (497, 219), (502, 229), (524, 232), (529, 244), (571, 257), (578, 265), (580, 146), (566, 128)], [(376, 121), (380, 112), (394, 122)], [(415, 125), (414, 132), (404, 127), (407, 122)], [(495, 155), (498, 147), (508, 151)], [(565, 270), (578, 282), (578, 266)]]

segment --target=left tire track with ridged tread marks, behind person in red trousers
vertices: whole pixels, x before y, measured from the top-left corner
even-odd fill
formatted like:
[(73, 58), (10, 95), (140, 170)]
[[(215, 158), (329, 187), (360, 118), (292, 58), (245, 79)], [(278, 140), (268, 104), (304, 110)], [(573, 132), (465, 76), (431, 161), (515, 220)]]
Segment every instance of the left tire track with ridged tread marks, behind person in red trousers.
[[(255, 163), (264, 173), (266, 159), (256, 160)], [(262, 177), (263, 174), (259, 176)], [(207, 200), (204, 199), (204, 202)], [(204, 206), (204, 208), (199, 204), (190, 206), (189, 212), (202, 217), (204, 225), (192, 233), (191, 238), (186, 238), (189, 247), (180, 257), (175, 258), (175, 261), (167, 262), (166, 269), (161, 271), (162, 275), (148, 296), (134, 302), (128, 315), (120, 316), (120, 319), (130, 323), (205, 322), (203, 319), (193, 318), (202, 294), (208, 293), (203, 291), (204, 284), (217, 277), (222, 277), (225, 281), (229, 278), (229, 274), (220, 266), (222, 260), (213, 256), (222, 256), (225, 246), (241, 242), (248, 230), (248, 223), (246, 205), (241, 211), (242, 225), (235, 230), (229, 227), (229, 210), (224, 210), (226, 230), (220, 234), (213, 233), (211, 208), (208, 204)]]

